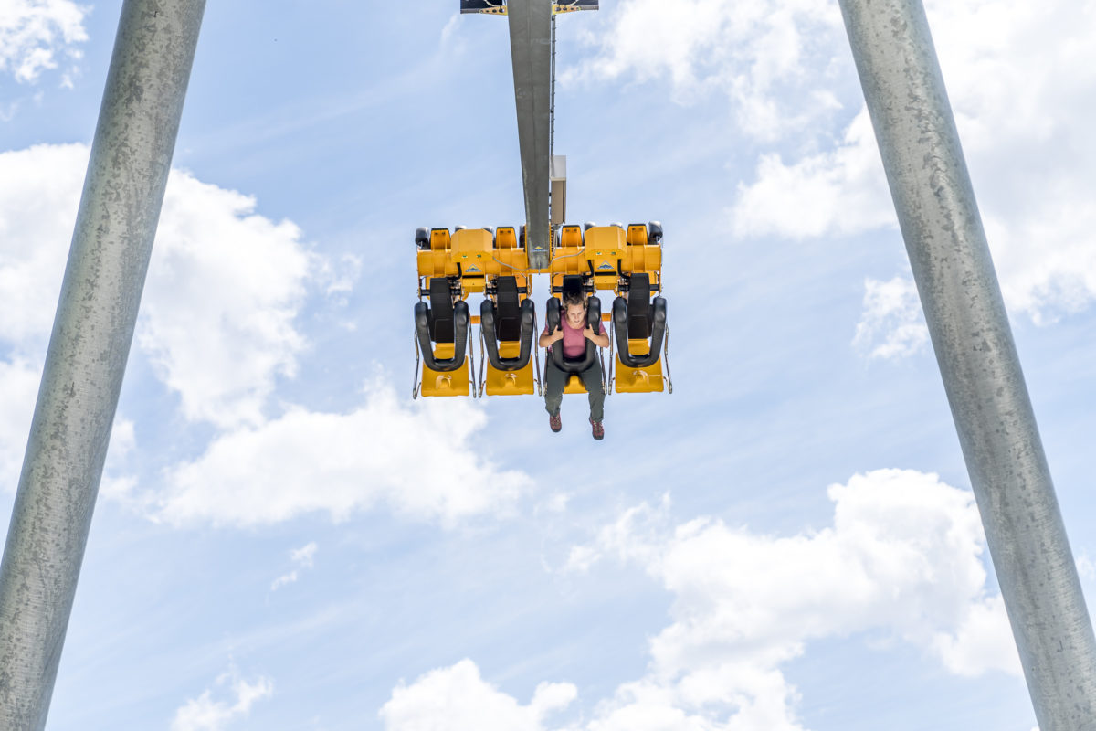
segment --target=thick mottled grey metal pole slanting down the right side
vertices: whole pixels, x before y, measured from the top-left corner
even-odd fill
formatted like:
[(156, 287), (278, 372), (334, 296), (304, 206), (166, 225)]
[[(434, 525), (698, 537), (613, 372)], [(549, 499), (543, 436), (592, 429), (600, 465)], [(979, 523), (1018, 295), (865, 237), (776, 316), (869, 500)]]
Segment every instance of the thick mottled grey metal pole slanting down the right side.
[(921, 0), (840, 0), (1042, 731), (1096, 729), (1096, 640)]

